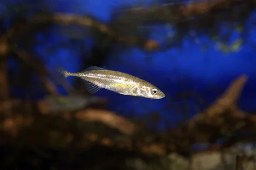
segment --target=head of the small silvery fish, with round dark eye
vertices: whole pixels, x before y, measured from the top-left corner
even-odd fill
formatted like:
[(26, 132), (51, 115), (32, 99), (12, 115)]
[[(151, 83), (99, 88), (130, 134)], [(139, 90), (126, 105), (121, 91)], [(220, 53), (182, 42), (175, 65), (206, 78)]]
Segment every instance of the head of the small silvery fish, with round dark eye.
[(162, 99), (165, 97), (165, 94), (154, 85), (140, 85), (138, 90), (139, 92), (137, 92), (137, 96), (150, 99)]

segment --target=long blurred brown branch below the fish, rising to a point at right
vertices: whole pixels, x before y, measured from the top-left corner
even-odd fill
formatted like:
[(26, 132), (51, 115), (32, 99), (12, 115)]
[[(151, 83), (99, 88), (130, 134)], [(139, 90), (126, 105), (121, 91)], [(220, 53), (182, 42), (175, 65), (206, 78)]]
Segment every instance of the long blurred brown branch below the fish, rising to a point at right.
[[(81, 124), (83, 126), (78, 127), (75, 125), (77, 130), (76, 133), (83, 133), (85, 136), (87, 136), (86, 140), (89, 140), (90, 142), (100, 142), (103, 145), (111, 145), (112, 147), (121, 147), (129, 150), (140, 150), (140, 152), (145, 154), (165, 155), (175, 151), (181, 155), (189, 156), (192, 154), (189, 148), (196, 143), (210, 142), (215, 144), (215, 142), (221, 138), (221, 136), (228, 139), (229, 137), (232, 137), (233, 134), (243, 130), (246, 130), (250, 132), (252, 136), (255, 136), (253, 131), (255, 130), (254, 125), (256, 124), (256, 116), (246, 114), (236, 107), (236, 101), (241, 94), (246, 80), (247, 76), (245, 75), (237, 78), (230, 84), (230, 87), (227, 88), (221, 97), (217, 99), (216, 102), (214, 102), (206, 111), (203, 113), (198, 113), (182, 127), (169, 129), (163, 134), (149, 132), (147, 127), (137, 125), (128, 119), (122, 118), (116, 113), (107, 111), (105, 109), (99, 110), (87, 108), (81, 111), (72, 111), (67, 108), (67, 110), (63, 112), (57, 111), (55, 108), (56, 112), (53, 113), (51, 112), (51, 107), (53, 106), (49, 105), (49, 103), (47, 104), (45, 100), (40, 101), (37, 104), (39, 113), (43, 114), (40, 116), (40, 119), (38, 119), (38, 116), (36, 115), (26, 118), (16, 116), (13, 118), (3, 119), (1, 122), (1, 130), (4, 133), (11, 133), (17, 136), (19, 135), (19, 129), (23, 129), (22, 131), (26, 131), (27, 128), (36, 129), (34, 126), (38, 126), (38, 124), (43, 122), (50, 123), (52, 121), (54, 122), (54, 120), (58, 120), (57, 122), (64, 121), (66, 123), (56, 124), (66, 125), (67, 122), (72, 122), (73, 119), (76, 119), (78, 122), (84, 122)], [(9, 101), (8, 105), (9, 108), (12, 108), (13, 110), (16, 108), (17, 110), (18, 105), (24, 105), (23, 103), (24, 102), (22, 101)], [(7, 105), (7, 102), (1, 104)], [(45, 110), (44, 108), (48, 109)], [(102, 134), (102, 129), (99, 128), (97, 130), (97, 127), (99, 126), (95, 127), (94, 125), (90, 124), (90, 122), (98, 122), (110, 129), (108, 130), (108, 128), (104, 127), (103, 131), (105, 131), (105, 133)], [(22, 128), (22, 126), (27, 127)], [(114, 129), (119, 131), (119, 135), (113, 131)], [(44, 130), (48, 131), (47, 129)], [(22, 134), (23, 133), (20, 135)], [(225, 134), (229, 135), (225, 136)], [(32, 134), (29, 133), (29, 136), (31, 135)], [(27, 138), (28, 136), (23, 137), (23, 139)], [(166, 139), (168, 142), (163, 142), (166, 141)], [(240, 137), (239, 140), (233, 142), (231, 145), (246, 139), (249, 139), (248, 136), (244, 138)], [(89, 141), (82, 142), (80, 140), (85, 139), (82, 138), (76, 142), (83, 143), (84, 147), (88, 147)], [(44, 143), (44, 145), (47, 146), (47, 142)], [(220, 147), (212, 147), (212, 149), (218, 150)]]

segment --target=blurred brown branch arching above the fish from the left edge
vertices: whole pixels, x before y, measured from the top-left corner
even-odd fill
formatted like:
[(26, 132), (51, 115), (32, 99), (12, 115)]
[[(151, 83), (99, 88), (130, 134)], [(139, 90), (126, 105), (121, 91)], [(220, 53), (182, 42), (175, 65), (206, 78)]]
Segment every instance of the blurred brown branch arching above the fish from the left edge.
[(111, 30), (107, 25), (100, 23), (99, 21), (93, 19), (89, 16), (79, 16), (76, 14), (64, 14), (64, 13), (56, 13), (56, 14), (38, 14), (32, 17), (28, 21), (23, 21), (20, 23), (16, 23), (13, 28), (10, 28), (0, 37), (0, 55), (6, 55), (10, 50), (12, 45), (26, 32), (31, 31), (34, 28), (39, 28), (45, 24), (60, 24), (60, 25), (72, 25), (76, 24), (82, 27), (96, 28), (98, 31), (107, 34), (108, 36), (122, 41), (128, 44), (137, 43), (137, 39), (129, 38), (124, 39), (114, 34), (114, 31)]

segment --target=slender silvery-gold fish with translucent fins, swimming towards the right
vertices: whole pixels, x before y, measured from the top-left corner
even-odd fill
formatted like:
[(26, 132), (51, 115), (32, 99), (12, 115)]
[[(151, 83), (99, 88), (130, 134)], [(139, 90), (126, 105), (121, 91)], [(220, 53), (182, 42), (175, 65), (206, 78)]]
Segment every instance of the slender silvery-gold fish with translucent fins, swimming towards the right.
[(90, 94), (105, 88), (109, 91), (128, 96), (139, 96), (149, 99), (162, 99), (165, 97), (165, 94), (151, 83), (119, 71), (90, 66), (84, 71), (71, 73), (61, 65), (58, 65), (57, 71), (64, 79), (69, 76), (79, 77)]

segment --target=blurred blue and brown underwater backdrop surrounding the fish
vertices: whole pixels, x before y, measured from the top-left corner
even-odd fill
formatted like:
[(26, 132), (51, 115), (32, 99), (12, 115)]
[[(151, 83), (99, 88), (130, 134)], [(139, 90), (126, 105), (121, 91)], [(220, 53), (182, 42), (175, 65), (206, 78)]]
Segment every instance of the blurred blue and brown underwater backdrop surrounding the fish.
[[(126, 157), (135, 155), (151, 163), (158, 160), (138, 151), (147, 143), (147, 136), (154, 143), (172, 143), (160, 155), (175, 152), (186, 159), (191, 159), (197, 150), (209, 153), (209, 148), (221, 150), (240, 142), (250, 141), (246, 147), (254, 147), (256, 2), (253, 0), (4, 0), (0, 2), (0, 35), (3, 169), (143, 169), (128, 167)], [(156, 85), (166, 97), (157, 100), (125, 96), (105, 89), (89, 94), (77, 77), (68, 77), (62, 84), (58, 82), (55, 65), (70, 72), (90, 66), (125, 72)], [(223, 95), (223, 100), (218, 101)], [(6, 104), (14, 100), (20, 102)], [(41, 101), (44, 102), (38, 104)], [(215, 106), (216, 101), (220, 104)], [(19, 106), (15, 108), (16, 105)], [(82, 119), (81, 111), (90, 108), (95, 113), (84, 118), (87, 123), (74, 120)], [(101, 120), (107, 113), (98, 113), (98, 109), (117, 117), (111, 123)], [(100, 118), (96, 118), (96, 112)], [(207, 116), (197, 116), (204, 112)], [(5, 122), (16, 114), (23, 123)], [(67, 122), (58, 117), (63, 115), (69, 117)], [(24, 123), (24, 117), (29, 119), (28, 123)], [(99, 125), (88, 123), (96, 119)], [(129, 123), (116, 127), (124, 125), (122, 121), (137, 122), (143, 130), (135, 134), (132, 130), (135, 127)], [(26, 127), (11, 130), (14, 137), (9, 135), (11, 124)], [(111, 125), (111, 130), (106, 130)], [(64, 132), (73, 136), (74, 141), (81, 139), (80, 145), (62, 144)], [(111, 145), (112, 149), (102, 149), (105, 144), (96, 142), (97, 146), (91, 149), (82, 140), (88, 133), (105, 136), (111, 143), (124, 138), (143, 144), (131, 142), (136, 145), (136, 152), (125, 151), (126, 155), (113, 149), (116, 144)], [(17, 142), (18, 139), (22, 140)], [(49, 144), (51, 147), (42, 144), (53, 139), (56, 140), (55, 144)], [(33, 149), (26, 149), (31, 144)], [(82, 145), (89, 148), (88, 153), (77, 153)], [(9, 152), (8, 148), (14, 151)], [(104, 156), (102, 150), (108, 150)], [(31, 161), (33, 154), (39, 156)], [(17, 155), (24, 155), (24, 160)], [(122, 163), (117, 167), (113, 167), (115, 163), (106, 163), (105, 159), (111, 156), (113, 162), (126, 160), (127, 167)], [(231, 159), (233, 168), (237, 156), (234, 154)], [(117, 157), (123, 157), (122, 161)], [(90, 162), (90, 166), (84, 165), (83, 160)], [(215, 168), (220, 169), (219, 165)]]

